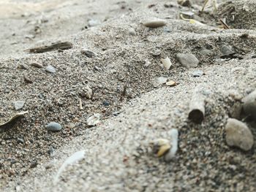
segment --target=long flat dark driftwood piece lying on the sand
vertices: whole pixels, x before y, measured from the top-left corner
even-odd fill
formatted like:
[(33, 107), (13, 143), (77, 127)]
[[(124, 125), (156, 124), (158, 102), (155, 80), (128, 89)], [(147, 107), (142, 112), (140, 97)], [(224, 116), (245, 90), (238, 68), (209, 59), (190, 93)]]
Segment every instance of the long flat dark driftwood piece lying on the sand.
[(45, 53), (53, 50), (68, 50), (73, 47), (71, 42), (54, 42), (51, 45), (34, 47), (29, 49), (29, 53)]

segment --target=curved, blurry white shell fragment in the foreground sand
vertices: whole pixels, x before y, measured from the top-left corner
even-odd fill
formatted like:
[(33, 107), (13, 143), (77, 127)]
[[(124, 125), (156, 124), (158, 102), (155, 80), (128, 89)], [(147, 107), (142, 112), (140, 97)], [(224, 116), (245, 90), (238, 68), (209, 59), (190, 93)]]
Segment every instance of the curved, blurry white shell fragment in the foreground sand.
[(69, 158), (67, 158), (66, 161), (64, 161), (64, 164), (61, 165), (61, 168), (59, 168), (56, 176), (54, 177), (53, 183), (57, 183), (59, 181), (59, 177), (61, 176), (61, 173), (64, 171), (64, 169), (71, 165), (75, 164), (76, 162), (82, 160), (85, 156), (86, 152), (84, 150), (80, 150), (78, 152), (75, 152), (73, 155), (71, 155)]

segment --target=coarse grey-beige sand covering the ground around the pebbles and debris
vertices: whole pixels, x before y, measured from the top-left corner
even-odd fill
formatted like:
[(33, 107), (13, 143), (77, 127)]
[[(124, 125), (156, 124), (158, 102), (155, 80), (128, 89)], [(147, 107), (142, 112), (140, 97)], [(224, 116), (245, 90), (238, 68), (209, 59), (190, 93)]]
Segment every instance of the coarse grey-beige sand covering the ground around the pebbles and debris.
[[(29, 111), (0, 133), (1, 191), (255, 191), (255, 147), (244, 152), (227, 146), (224, 130), (233, 104), (256, 88), (256, 11), (250, 4), (255, 5), (227, 2), (217, 12), (209, 7), (199, 13), (203, 1), (188, 8), (156, 0), (1, 0), (0, 122), (17, 113), (14, 101), (25, 101), (21, 111)], [(178, 18), (188, 10), (206, 25)], [(227, 18), (230, 29), (219, 28), (227, 12), (236, 19)], [(167, 25), (143, 26), (151, 18)], [(73, 47), (24, 51), (58, 41)], [(238, 58), (221, 59), (223, 45)], [(86, 57), (83, 48), (97, 55)], [(195, 54), (199, 66), (184, 68), (177, 53)], [(169, 70), (160, 61), (167, 56), (173, 63)], [(33, 62), (43, 68), (30, 66)], [(56, 73), (46, 72), (48, 65)], [(204, 74), (193, 77), (195, 70)], [(177, 85), (157, 85), (158, 77)], [(91, 99), (84, 96), (88, 86)], [(188, 120), (195, 89), (206, 96), (199, 125)], [(86, 120), (94, 113), (102, 121), (89, 127)], [(60, 123), (61, 131), (48, 131), (50, 121)], [(248, 126), (256, 138), (255, 125)], [(178, 129), (178, 151), (165, 162), (148, 142), (170, 139), (172, 128)], [(61, 164), (79, 150), (84, 158), (54, 183)]]

